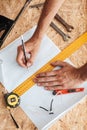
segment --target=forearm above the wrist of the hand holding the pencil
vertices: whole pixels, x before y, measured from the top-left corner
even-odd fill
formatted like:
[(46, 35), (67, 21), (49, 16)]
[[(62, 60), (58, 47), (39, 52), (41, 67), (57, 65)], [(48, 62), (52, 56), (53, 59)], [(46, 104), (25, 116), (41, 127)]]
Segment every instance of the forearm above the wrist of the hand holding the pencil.
[(34, 33), (35, 37), (42, 39), (49, 24), (51, 23), (53, 17), (57, 13), (63, 2), (64, 0), (46, 0), (41, 17), (38, 22), (37, 29)]

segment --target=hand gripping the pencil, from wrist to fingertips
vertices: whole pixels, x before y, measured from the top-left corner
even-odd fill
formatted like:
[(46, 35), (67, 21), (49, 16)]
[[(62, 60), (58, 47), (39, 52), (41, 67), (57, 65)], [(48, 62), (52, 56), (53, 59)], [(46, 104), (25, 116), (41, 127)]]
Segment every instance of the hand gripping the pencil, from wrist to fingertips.
[(27, 57), (27, 64), (25, 64), (24, 62), (25, 60), (22, 46), (18, 46), (16, 60), (20, 66), (26, 68), (30, 67), (33, 64), (39, 50), (40, 42), (40, 39), (35, 39), (32, 37), (29, 41), (25, 43), (26, 55), (30, 54), (30, 57)]

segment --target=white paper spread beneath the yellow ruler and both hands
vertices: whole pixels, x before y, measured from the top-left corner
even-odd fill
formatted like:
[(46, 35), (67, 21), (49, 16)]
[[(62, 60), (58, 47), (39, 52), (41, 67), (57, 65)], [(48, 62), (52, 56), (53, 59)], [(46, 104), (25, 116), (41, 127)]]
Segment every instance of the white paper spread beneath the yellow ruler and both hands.
[[(34, 30), (35, 27), (24, 34), (25, 41), (32, 36)], [(3, 65), (0, 66), (0, 82), (2, 82), (6, 87), (8, 92), (14, 90), (14, 88), (34, 74), (39, 68), (60, 52), (54, 43), (45, 36), (33, 66), (29, 69), (25, 69), (16, 63), (17, 46), (20, 44), (21, 38), (18, 38), (12, 44), (0, 51), (0, 59), (3, 60)], [(66, 61), (70, 62), (68, 59)], [(87, 88), (87, 82), (81, 86)], [(74, 104), (80, 101), (86, 94), (87, 91), (85, 90), (80, 93), (53, 96), (52, 92), (45, 90), (43, 87), (34, 85), (21, 96), (20, 106), (39, 130), (45, 130)], [(49, 115), (49, 112), (44, 111), (39, 108), (39, 106), (45, 107), (49, 110), (52, 98), (54, 99), (54, 114)]]

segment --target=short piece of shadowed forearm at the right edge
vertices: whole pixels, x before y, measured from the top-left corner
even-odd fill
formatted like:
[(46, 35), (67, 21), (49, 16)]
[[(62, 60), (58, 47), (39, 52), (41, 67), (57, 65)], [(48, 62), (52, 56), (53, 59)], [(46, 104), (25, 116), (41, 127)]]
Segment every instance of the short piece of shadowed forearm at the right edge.
[(81, 75), (82, 80), (87, 81), (87, 63), (79, 68), (79, 73)]

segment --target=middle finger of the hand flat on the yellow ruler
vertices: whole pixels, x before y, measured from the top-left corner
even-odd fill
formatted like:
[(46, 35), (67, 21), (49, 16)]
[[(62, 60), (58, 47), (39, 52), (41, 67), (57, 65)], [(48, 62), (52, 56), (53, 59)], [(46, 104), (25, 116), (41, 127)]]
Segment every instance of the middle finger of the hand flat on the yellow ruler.
[(49, 82), (49, 81), (57, 81), (58, 80), (58, 76), (51, 76), (51, 77), (41, 77), (41, 78), (35, 78), (34, 82), (38, 83), (38, 82)]

